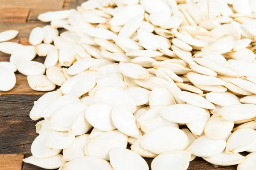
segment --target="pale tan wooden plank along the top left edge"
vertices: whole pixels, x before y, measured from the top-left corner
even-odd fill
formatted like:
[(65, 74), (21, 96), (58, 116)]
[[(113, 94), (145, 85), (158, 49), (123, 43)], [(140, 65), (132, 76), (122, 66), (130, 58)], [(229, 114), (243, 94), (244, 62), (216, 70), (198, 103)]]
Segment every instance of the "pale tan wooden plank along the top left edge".
[(58, 8), (61, 9), (64, 0), (0, 0), (2, 8)]

